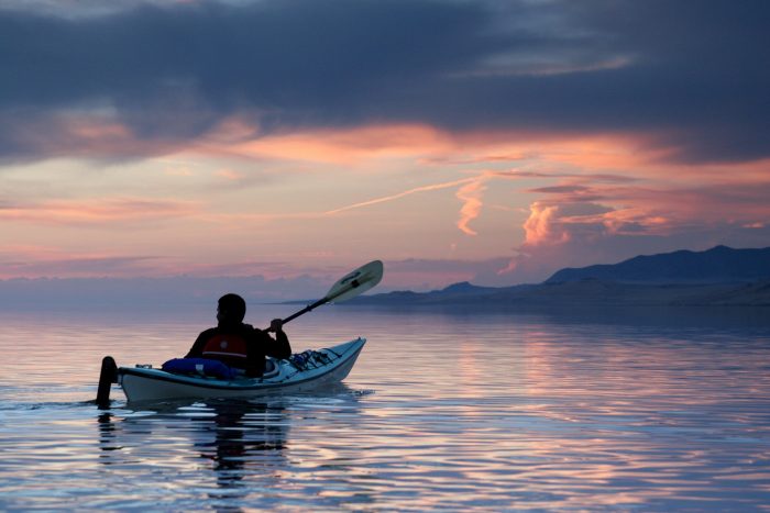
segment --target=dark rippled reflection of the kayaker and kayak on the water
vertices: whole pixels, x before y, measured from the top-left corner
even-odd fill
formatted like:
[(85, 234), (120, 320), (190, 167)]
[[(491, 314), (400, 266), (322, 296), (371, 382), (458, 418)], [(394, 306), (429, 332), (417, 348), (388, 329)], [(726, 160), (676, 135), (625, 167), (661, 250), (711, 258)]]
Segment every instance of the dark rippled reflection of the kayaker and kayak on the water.
[[(215, 488), (205, 488), (212, 500), (245, 497), (246, 483), (286, 466), (289, 422), (282, 400), (210, 400), (164, 403), (152, 410), (112, 410), (97, 419), (100, 462), (105, 466), (166, 465), (194, 469), (200, 461), (210, 469)], [(142, 454), (156, 448), (148, 460)], [(202, 486), (201, 486), (202, 484)], [(232, 510), (228, 510), (232, 511)]]

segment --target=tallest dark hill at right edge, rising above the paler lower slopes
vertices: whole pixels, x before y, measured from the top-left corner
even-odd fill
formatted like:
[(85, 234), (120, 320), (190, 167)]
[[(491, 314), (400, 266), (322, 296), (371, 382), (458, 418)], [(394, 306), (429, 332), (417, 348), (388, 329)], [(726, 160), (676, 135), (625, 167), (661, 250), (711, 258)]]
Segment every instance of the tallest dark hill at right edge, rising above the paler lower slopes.
[(637, 256), (614, 265), (561, 269), (546, 283), (585, 279), (625, 283), (730, 283), (770, 279), (770, 247), (733, 249), (716, 246), (706, 252), (680, 250)]

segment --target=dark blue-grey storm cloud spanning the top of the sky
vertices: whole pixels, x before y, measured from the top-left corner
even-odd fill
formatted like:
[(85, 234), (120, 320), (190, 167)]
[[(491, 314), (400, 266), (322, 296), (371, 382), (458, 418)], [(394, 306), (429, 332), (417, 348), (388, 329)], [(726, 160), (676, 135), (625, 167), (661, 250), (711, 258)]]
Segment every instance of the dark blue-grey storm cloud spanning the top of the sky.
[(265, 132), (425, 122), (638, 133), (680, 160), (770, 154), (765, 0), (284, 0), (45, 12), (0, 11), (1, 156), (61, 150), (51, 141), (62, 123), (46, 131), (45, 120), (86, 110), (116, 116), (135, 140), (169, 143), (238, 113)]

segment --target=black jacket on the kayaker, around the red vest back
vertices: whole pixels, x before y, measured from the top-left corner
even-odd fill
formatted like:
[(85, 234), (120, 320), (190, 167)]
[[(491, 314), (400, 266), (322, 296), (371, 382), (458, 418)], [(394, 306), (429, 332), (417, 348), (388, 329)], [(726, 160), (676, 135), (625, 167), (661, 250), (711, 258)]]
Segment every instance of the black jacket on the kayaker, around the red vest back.
[(239, 335), (246, 341), (249, 353), (245, 371), (249, 376), (262, 376), (265, 371), (266, 356), (274, 358), (288, 358), (292, 356), (292, 346), (283, 331), (277, 332), (275, 338), (273, 338), (267, 332), (257, 330), (251, 324), (241, 323), (233, 326), (220, 325), (201, 332), (185, 358), (202, 358), (206, 343), (216, 335)]

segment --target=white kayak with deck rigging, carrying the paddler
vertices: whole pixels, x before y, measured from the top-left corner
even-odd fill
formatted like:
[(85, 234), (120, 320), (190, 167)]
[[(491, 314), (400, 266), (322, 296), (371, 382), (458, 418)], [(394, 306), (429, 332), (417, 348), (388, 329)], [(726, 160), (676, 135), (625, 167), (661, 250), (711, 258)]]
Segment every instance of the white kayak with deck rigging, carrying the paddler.
[(129, 402), (304, 392), (342, 381), (365, 343), (365, 338), (359, 337), (324, 349), (295, 354), (287, 359), (268, 358), (268, 369), (260, 378), (220, 379), (136, 366), (118, 367), (117, 381)]

